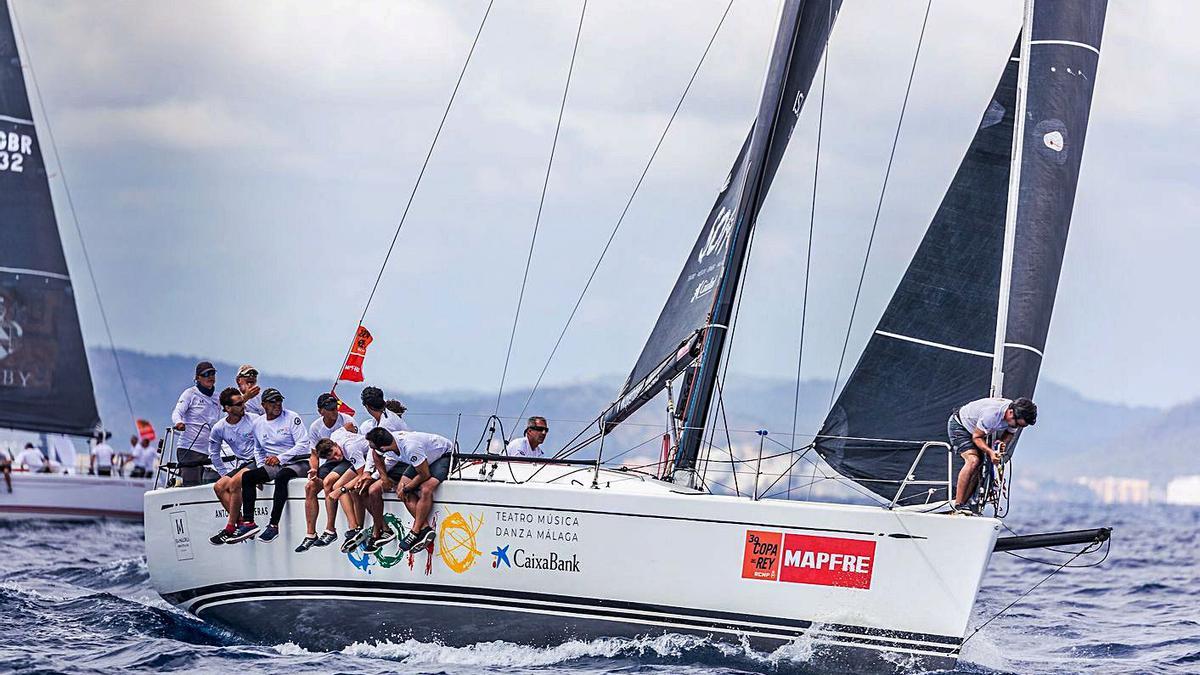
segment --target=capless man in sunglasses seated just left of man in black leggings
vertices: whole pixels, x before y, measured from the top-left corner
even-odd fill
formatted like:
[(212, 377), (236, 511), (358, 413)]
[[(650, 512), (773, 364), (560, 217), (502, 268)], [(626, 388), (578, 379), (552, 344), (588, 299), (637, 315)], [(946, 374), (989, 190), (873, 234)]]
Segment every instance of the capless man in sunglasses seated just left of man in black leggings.
[[(241, 393), (234, 387), (221, 390), (221, 407), (226, 416), (212, 425), (209, 436), (209, 460), (212, 470), (221, 476), (212, 484), (217, 500), (226, 507), (229, 520), (224, 530), (209, 538), (214, 544), (223, 544), (238, 528), (238, 514), (241, 512), (241, 473), (254, 468), (254, 419), (258, 416), (246, 412)], [(146, 441), (149, 444), (149, 441)], [(233, 462), (227, 464), (222, 456), (222, 443), (233, 450)], [(151, 460), (152, 461), (152, 460)]]

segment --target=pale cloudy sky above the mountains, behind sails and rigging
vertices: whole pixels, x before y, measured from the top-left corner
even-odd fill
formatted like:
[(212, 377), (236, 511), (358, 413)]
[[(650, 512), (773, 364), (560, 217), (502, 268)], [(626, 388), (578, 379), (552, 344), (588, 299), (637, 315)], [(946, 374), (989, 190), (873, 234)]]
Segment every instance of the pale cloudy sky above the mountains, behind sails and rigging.
[[(12, 1), (62, 161), (47, 163), (89, 344), (107, 339), (65, 186), (118, 346), (331, 377), (486, 2)], [(802, 375), (838, 371), (925, 6), (845, 4), (758, 220), (731, 377), (796, 377), (810, 213)], [(538, 378), (725, 7), (588, 4), (505, 387)], [(499, 386), (580, 11), (493, 6), (366, 316), (368, 378)], [(734, 1), (545, 382), (632, 366), (752, 120), (776, 12)], [(1020, 14), (932, 2), (845, 371)], [(1200, 396), (1198, 19), (1193, 2), (1109, 4), (1042, 375), (1093, 399)]]

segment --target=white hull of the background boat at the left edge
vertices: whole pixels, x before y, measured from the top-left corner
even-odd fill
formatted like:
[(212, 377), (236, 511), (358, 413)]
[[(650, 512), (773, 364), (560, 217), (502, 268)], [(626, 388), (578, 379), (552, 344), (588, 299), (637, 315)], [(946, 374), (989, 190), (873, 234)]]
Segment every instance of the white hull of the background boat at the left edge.
[(0, 518), (142, 520), (149, 478), (12, 473), (12, 492), (0, 484)]

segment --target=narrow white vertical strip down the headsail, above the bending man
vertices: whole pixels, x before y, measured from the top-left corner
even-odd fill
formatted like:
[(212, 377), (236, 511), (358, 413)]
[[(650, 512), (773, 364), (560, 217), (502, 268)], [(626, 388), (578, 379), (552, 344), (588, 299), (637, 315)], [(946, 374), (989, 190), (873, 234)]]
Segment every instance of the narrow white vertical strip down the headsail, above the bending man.
[(1013, 129), (1013, 156), (1008, 172), (1004, 251), (1000, 263), (1000, 304), (996, 312), (996, 342), (991, 357), (990, 396), (1004, 395), (1004, 342), (1008, 335), (1008, 300), (1013, 289), (1013, 258), (1016, 252), (1016, 208), (1021, 197), (1021, 150), (1025, 147), (1025, 108), (1030, 88), (1030, 36), (1032, 32), (1033, 0), (1025, 0), (1020, 56), (1018, 56), (1020, 61), (1016, 64), (1016, 118)]

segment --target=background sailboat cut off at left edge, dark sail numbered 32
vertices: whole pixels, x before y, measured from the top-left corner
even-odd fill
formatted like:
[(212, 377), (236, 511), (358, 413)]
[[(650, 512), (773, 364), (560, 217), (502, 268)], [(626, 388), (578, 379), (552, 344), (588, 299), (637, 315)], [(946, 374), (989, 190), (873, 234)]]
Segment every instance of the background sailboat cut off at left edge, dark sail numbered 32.
[[(100, 413), (8, 2), (0, 12), (0, 429), (90, 437)], [(74, 468), (74, 456), (52, 456)], [(142, 519), (149, 480), (14, 471), (0, 516)]]

